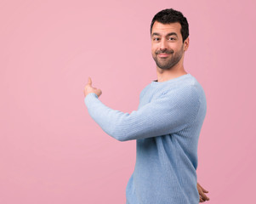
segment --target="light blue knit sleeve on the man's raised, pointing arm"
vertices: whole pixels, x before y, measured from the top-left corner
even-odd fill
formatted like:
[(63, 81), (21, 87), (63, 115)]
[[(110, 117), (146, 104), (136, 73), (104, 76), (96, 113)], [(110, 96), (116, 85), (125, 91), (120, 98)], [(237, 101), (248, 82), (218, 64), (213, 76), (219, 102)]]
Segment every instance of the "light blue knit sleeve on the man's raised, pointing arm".
[(200, 107), (195, 88), (162, 94), (130, 114), (104, 105), (94, 93), (88, 94), (84, 102), (94, 121), (119, 141), (177, 133), (195, 120)]

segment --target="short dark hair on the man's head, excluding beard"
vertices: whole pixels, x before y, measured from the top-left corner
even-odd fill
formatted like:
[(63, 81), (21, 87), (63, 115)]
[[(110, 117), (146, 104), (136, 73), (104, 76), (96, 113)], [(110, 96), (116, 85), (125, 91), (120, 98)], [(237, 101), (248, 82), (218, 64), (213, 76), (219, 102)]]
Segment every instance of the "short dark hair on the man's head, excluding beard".
[(181, 25), (181, 36), (183, 42), (187, 37), (189, 37), (189, 24), (186, 20), (185, 16), (173, 8), (167, 8), (162, 11), (159, 11), (154, 18), (151, 21), (151, 33), (152, 33), (152, 27), (155, 23), (155, 21), (162, 23), (162, 24), (170, 24), (170, 23), (176, 23), (179, 22)]

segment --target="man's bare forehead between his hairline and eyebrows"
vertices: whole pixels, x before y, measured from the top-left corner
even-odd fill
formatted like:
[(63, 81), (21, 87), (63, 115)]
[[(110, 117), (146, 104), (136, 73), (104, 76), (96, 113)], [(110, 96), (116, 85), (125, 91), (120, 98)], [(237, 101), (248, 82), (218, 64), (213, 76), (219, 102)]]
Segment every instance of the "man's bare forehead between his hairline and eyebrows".
[(165, 35), (170, 32), (176, 32), (178, 35), (180, 33), (181, 25), (179, 22), (170, 23), (170, 24), (162, 24), (158, 21), (156, 21), (152, 27), (152, 34), (153, 33), (159, 33), (160, 35)]

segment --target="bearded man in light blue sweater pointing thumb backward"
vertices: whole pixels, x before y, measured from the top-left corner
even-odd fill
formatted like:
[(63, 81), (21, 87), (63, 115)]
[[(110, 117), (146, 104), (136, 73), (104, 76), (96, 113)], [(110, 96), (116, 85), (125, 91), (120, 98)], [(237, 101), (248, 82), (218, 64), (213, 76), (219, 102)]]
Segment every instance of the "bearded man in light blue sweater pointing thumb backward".
[(157, 80), (141, 91), (138, 111), (128, 114), (104, 105), (91, 78), (84, 88), (88, 113), (105, 133), (120, 141), (136, 139), (136, 164), (126, 189), (129, 204), (209, 200), (208, 191), (196, 186), (197, 144), (207, 104), (202, 86), (184, 69), (188, 36), (188, 22), (179, 11), (170, 8), (154, 16), (151, 53)]

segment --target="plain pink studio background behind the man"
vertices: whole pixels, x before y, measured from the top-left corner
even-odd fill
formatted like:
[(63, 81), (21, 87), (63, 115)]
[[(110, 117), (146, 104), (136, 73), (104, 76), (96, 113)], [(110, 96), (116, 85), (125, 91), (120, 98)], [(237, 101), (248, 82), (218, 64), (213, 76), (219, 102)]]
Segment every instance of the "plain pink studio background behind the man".
[(208, 203), (254, 202), (254, 0), (1, 0), (0, 203), (125, 202), (135, 141), (104, 133), (82, 90), (92, 77), (105, 105), (137, 109), (156, 79), (150, 23), (163, 8), (189, 21), (185, 70), (208, 99), (197, 168)]

